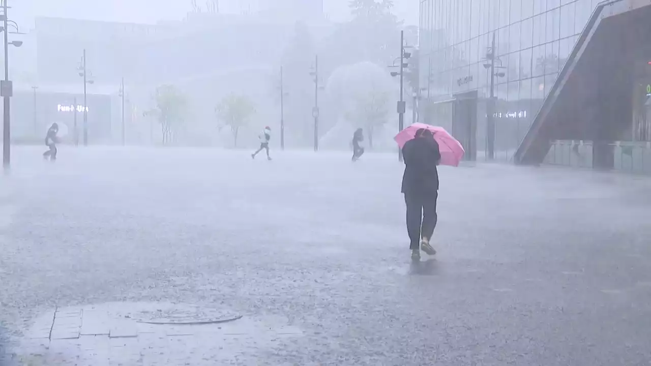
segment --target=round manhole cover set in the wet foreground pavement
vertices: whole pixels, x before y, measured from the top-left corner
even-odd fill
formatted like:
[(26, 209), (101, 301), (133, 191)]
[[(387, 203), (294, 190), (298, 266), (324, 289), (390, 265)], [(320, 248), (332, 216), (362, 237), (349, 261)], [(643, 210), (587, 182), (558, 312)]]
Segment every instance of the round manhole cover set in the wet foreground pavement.
[(135, 311), (126, 317), (148, 324), (214, 324), (232, 322), (242, 318), (242, 315), (232, 311), (206, 309), (191, 305), (174, 305)]

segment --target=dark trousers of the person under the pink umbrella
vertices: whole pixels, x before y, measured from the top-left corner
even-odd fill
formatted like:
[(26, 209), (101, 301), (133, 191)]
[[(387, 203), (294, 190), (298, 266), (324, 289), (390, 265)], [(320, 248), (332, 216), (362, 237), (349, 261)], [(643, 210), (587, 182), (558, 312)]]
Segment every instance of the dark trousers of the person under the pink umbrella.
[(407, 205), (407, 232), (409, 234), (409, 248), (419, 249), (421, 237), (432, 238), (438, 216), (436, 214), (436, 199), (438, 191), (428, 193), (405, 192)]

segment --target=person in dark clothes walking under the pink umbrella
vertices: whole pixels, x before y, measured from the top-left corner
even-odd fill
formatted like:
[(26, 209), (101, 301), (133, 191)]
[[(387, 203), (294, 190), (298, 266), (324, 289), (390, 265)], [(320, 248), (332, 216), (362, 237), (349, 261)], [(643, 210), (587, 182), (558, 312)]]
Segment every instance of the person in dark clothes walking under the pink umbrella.
[(436, 166), (441, 160), (439, 145), (430, 130), (421, 128), (416, 137), (402, 147), (405, 171), (402, 176), (402, 193), (407, 206), (407, 232), (411, 258), (420, 259), (420, 250), (436, 254), (430, 239), (436, 227), (436, 200), (439, 175)]

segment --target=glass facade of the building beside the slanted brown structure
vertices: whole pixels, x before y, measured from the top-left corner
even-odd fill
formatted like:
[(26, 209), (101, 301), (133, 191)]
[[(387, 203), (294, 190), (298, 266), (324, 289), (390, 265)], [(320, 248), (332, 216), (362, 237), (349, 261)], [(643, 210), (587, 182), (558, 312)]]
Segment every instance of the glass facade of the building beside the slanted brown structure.
[(510, 160), (600, 1), (421, 0), (421, 120), (441, 124), (442, 101), (477, 91), (480, 158), (494, 36), (495, 158)]

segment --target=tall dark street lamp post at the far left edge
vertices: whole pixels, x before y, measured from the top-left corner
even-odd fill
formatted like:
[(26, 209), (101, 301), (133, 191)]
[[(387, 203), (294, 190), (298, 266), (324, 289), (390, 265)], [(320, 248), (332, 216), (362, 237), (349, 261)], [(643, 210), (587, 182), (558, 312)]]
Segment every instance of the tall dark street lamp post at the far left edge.
[[(20, 33), (18, 29), (18, 24), (16, 24), (15, 21), (9, 20), (8, 15), (7, 15), (7, 1), (8, 0), (3, 0), (2, 4), (2, 9), (3, 9), (3, 14), (0, 15), (2, 21), (3, 21), (3, 27), (0, 31), (4, 33), (5, 36), (5, 79), (0, 83), (0, 94), (3, 97), (3, 104), (4, 104), (4, 113), (3, 113), (3, 168), (5, 171), (8, 171), (9, 169), (9, 164), (11, 161), (11, 150), (10, 150), (10, 143), (11, 143), (11, 134), (10, 134), (10, 102), (9, 98), (13, 95), (13, 85), (12, 82), (9, 80), (9, 45), (12, 45), (14, 47), (20, 47), (23, 45), (23, 41), (21, 40), (14, 40), (12, 42), (9, 42), (9, 36), (8, 33), (12, 33), (15, 35), (21, 35), (24, 33)], [(9, 31), (9, 25), (11, 25), (15, 31), (10, 32)]]

